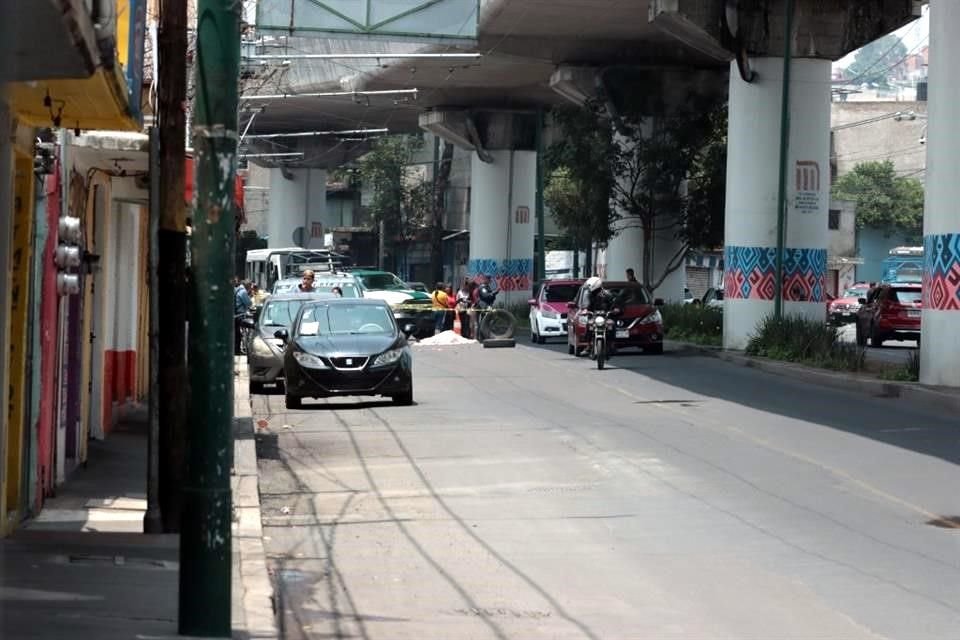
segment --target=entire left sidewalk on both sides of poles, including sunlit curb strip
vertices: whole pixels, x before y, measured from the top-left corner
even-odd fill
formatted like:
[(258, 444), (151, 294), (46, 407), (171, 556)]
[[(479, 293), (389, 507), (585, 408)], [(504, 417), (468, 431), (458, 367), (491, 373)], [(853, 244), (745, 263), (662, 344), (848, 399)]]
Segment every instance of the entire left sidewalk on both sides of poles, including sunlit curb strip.
[[(246, 367), (237, 379), (232, 637), (275, 639), (260, 529)], [(166, 640), (177, 635), (179, 536), (144, 535), (147, 415), (131, 414), (40, 514), (0, 540), (3, 640)]]

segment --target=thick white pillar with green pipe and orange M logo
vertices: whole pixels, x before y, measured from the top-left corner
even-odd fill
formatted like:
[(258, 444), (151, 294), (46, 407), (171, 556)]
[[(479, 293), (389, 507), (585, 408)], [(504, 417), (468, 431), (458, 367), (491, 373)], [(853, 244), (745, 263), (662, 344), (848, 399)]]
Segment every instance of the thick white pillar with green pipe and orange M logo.
[[(723, 346), (742, 349), (774, 310), (783, 60), (751, 60), (744, 82), (730, 67)], [(784, 314), (825, 317), (830, 200), (830, 61), (791, 68)]]

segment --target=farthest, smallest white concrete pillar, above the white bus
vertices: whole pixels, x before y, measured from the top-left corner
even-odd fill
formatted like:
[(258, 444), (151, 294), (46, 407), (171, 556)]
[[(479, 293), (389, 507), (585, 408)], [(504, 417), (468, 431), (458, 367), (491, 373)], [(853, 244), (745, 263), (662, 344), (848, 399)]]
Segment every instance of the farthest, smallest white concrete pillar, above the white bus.
[(322, 249), (323, 234), (328, 231), (326, 213), (325, 169), (270, 170), (269, 248)]

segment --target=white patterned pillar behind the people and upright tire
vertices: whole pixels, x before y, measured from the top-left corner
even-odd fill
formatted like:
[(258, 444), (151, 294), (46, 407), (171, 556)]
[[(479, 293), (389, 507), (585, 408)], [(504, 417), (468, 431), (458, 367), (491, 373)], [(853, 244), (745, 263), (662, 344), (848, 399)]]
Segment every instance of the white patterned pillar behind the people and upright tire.
[(488, 152), (470, 161), (470, 262), (467, 275), (487, 275), (500, 288), (497, 302), (527, 300), (532, 292), (535, 151)]

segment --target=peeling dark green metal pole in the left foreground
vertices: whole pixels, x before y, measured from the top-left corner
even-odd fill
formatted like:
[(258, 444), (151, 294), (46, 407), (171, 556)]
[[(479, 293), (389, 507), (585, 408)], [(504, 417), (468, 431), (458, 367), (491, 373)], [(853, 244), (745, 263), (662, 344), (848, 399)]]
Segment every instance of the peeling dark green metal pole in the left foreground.
[(180, 531), (180, 633), (230, 637), (233, 276), (240, 10), (200, 0), (193, 148), (191, 427)]

